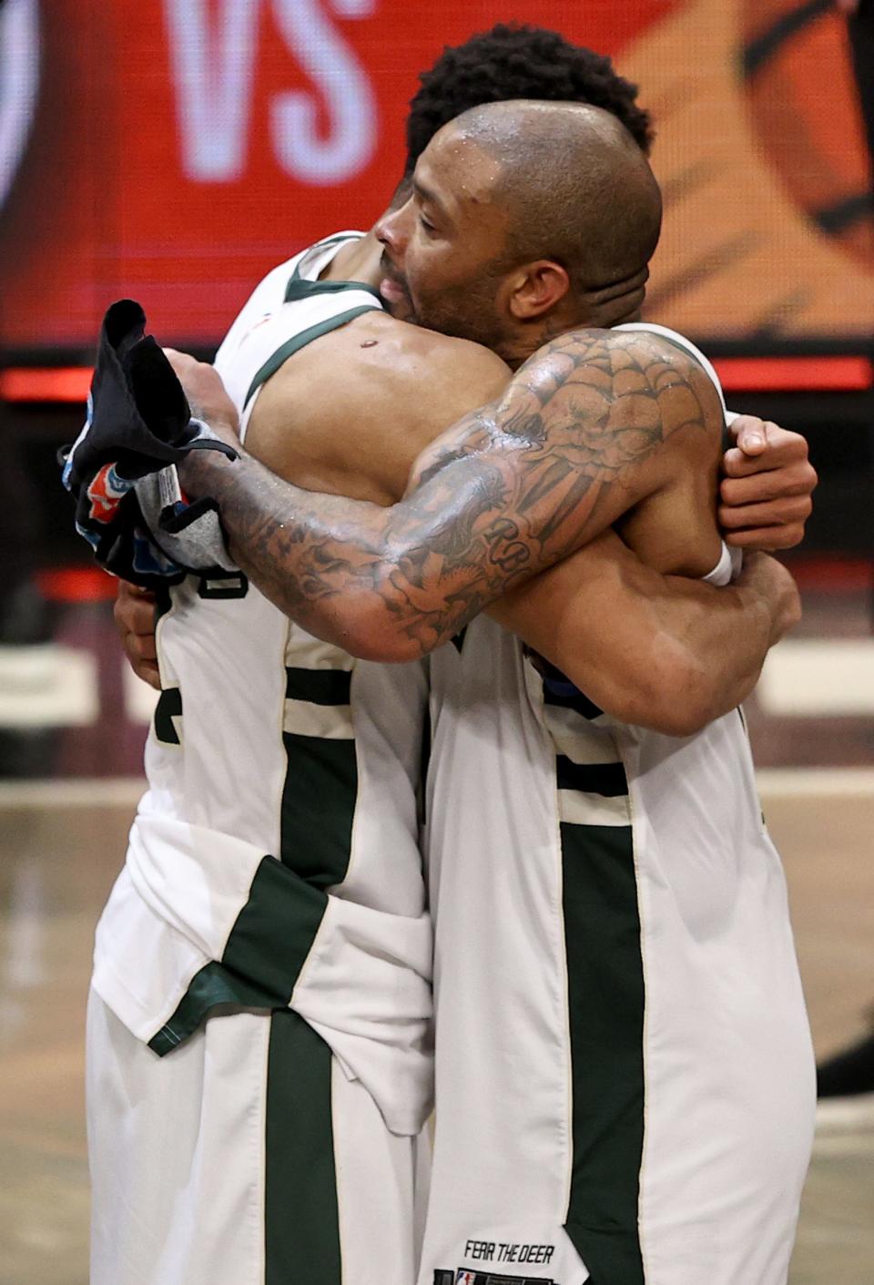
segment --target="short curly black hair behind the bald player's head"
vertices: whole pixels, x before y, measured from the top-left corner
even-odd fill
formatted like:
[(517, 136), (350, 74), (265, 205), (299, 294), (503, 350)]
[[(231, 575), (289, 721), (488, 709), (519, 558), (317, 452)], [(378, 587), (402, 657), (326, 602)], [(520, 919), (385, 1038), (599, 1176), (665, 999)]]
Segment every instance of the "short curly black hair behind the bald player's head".
[(470, 107), (513, 98), (591, 103), (616, 116), (644, 153), (653, 143), (652, 117), (636, 103), (638, 86), (618, 76), (609, 58), (545, 27), (499, 22), (455, 49), (446, 46), (419, 81), (406, 120), (407, 175), (447, 121)]

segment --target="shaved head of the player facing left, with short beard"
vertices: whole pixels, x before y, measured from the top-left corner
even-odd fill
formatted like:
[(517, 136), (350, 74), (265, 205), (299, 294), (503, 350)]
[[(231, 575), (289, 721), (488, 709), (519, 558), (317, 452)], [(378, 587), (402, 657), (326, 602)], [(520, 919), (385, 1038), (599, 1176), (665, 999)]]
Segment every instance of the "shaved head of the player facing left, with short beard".
[(380, 220), (380, 289), (514, 365), (563, 330), (631, 320), (661, 222), (649, 162), (609, 112), (488, 103), (438, 130)]

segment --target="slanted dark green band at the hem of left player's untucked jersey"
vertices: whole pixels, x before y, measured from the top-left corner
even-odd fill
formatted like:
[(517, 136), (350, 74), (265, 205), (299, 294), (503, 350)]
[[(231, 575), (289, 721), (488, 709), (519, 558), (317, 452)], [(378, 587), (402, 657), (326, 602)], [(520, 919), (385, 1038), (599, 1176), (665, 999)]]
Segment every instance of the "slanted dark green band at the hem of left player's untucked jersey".
[(263, 857), (236, 917), (221, 962), (206, 964), (170, 1020), (149, 1041), (163, 1056), (188, 1040), (221, 1005), (274, 1009), (288, 1005), (326, 906), (326, 897)]

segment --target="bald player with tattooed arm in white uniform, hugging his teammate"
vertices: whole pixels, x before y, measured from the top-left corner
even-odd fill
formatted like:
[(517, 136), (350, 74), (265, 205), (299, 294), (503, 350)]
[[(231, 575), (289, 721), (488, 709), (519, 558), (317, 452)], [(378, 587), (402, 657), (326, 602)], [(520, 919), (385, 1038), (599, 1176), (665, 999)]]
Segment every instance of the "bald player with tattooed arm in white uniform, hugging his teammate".
[[(488, 339), (513, 364), (549, 333), (550, 315), (562, 330), (557, 303), (573, 290), (578, 262), (563, 254), (531, 269), (510, 251), (501, 263), (500, 248), (522, 235), (519, 208), (537, 211), (540, 235), (549, 227), (539, 184), (524, 190), (524, 176), (536, 163), (550, 199), (560, 198), (549, 145), (573, 171), (580, 121), (594, 121), (596, 134), (603, 125), (581, 109), (509, 104), (443, 128), (419, 162), (414, 200), (382, 225), (395, 256), (383, 293), (397, 292), (423, 321)], [(581, 137), (577, 164), (594, 153), (595, 173), (618, 173), (632, 193), (631, 152), (627, 170), (617, 158), (599, 167), (586, 126)], [(587, 179), (603, 208), (591, 170)], [(649, 245), (643, 177), (641, 189), (636, 247)], [(631, 281), (634, 297), (641, 269), (640, 257), (622, 258), (626, 231), (616, 231), (612, 271), (595, 278), (608, 307), (621, 292), (611, 297), (607, 284)], [(584, 244), (594, 244), (590, 229)], [(557, 296), (544, 278), (564, 263), (573, 266)], [(486, 270), (483, 285), (472, 287), (474, 265)], [(364, 323), (347, 334), (353, 328), (368, 342)], [(353, 649), (374, 657), (419, 654), (458, 634), (521, 565), (550, 560), (557, 529), (571, 546), (568, 527), (585, 538), (591, 515), (611, 511), (617, 472), (618, 504), (644, 495), (623, 523), (626, 538), (641, 553), (650, 546), (664, 569), (718, 574), (707, 497), (718, 454), (707, 400), (716, 393), (690, 369), (685, 382), (661, 337), (649, 342), (639, 330), (549, 342), (494, 407), (425, 452), (407, 499), (388, 513), (314, 497), (245, 459), (240, 469), (185, 465), (185, 484), (198, 493), (211, 479), (238, 555), (276, 601), (329, 639), (348, 631)], [(645, 361), (658, 365), (652, 378)], [(668, 405), (679, 398), (682, 407), (677, 437), (691, 424), (702, 432), (703, 442), (694, 437), (682, 451), (702, 454), (685, 486), (679, 452), (647, 490), (649, 446), (622, 448), (603, 423), (614, 415), (620, 441), (625, 425), (634, 434), (647, 400), (659, 401), (664, 370)], [(631, 420), (620, 386), (636, 398)], [(671, 454), (667, 414), (649, 424)], [(575, 491), (593, 461), (594, 482)], [(590, 487), (599, 493), (586, 509)], [(564, 578), (540, 599), (541, 621), (553, 610), (546, 648), (555, 601), (573, 586), (567, 565), (551, 574)], [(483, 1279), (564, 1285), (587, 1275), (618, 1285), (779, 1285), (810, 1153), (812, 1060), (783, 875), (761, 826), (740, 718), (720, 718), (680, 745), (593, 726), (600, 711), (569, 684), (544, 684), (487, 621), (434, 666), (438, 1123), (420, 1285), (477, 1267)], [(485, 906), (494, 912), (483, 916)], [(532, 1263), (551, 1275), (532, 1277)]]

